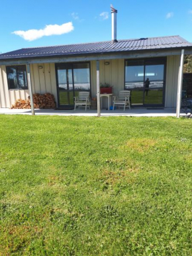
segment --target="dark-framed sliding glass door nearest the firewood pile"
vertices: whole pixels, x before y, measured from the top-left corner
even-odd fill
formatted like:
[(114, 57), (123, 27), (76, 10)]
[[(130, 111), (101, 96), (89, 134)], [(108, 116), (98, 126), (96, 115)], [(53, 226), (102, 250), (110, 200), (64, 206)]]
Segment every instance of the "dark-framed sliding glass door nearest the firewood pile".
[(79, 92), (91, 91), (88, 62), (56, 64), (56, 76), (59, 107), (73, 108), (74, 97)]

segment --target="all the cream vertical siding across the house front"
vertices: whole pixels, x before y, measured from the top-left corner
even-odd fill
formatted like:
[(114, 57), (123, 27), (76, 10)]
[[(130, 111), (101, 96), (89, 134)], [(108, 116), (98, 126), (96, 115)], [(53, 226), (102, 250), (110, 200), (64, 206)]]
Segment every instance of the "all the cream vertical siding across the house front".
[[(105, 62), (109, 62), (109, 65), (105, 65)], [(167, 58), (165, 107), (175, 107), (177, 103), (179, 62), (180, 56), (168, 56)], [(57, 102), (55, 64), (31, 64), (30, 70), (33, 93), (50, 92), (54, 94)], [(124, 90), (124, 60), (101, 60), (100, 82), (113, 86), (113, 95), (118, 96), (119, 91)], [(96, 60), (94, 60), (91, 61), (91, 97), (96, 97), (96, 94)], [(0, 66), (0, 107), (11, 107), (16, 99), (27, 98), (28, 90), (8, 89), (6, 67)], [(103, 100), (103, 105), (107, 107), (107, 99)]]

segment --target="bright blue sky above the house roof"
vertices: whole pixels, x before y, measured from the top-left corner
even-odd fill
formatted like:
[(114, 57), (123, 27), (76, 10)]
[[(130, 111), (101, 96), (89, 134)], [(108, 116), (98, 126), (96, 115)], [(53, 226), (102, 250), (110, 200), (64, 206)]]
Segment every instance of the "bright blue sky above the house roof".
[(9, 0), (1, 1), (0, 52), (111, 40), (111, 3), (118, 10), (117, 39), (179, 34), (192, 42), (189, 0)]

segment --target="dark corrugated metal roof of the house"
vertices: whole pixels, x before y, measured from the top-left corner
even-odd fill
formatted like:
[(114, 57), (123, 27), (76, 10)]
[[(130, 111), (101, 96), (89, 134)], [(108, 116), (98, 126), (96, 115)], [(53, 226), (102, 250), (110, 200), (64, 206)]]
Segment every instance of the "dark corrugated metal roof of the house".
[(191, 47), (181, 36), (162, 36), (152, 38), (119, 40), (118, 42), (88, 42), (83, 44), (68, 44), (60, 46), (45, 46), (36, 48), (22, 48), (12, 52), (0, 54), (0, 59), (33, 58), (48, 56), (66, 56), (79, 54), (101, 54), (126, 52), (134, 50), (158, 50), (166, 48)]

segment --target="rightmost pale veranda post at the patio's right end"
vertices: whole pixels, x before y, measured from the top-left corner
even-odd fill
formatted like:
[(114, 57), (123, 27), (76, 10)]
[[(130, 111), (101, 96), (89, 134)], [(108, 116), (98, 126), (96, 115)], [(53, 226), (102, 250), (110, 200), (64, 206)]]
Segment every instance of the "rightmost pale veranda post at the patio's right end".
[(185, 50), (181, 50), (181, 60), (179, 66), (179, 80), (178, 80), (178, 88), (177, 88), (177, 118), (180, 116), (181, 111), (181, 94), (182, 94), (182, 86), (183, 86), (183, 63), (184, 63), (184, 54)]

